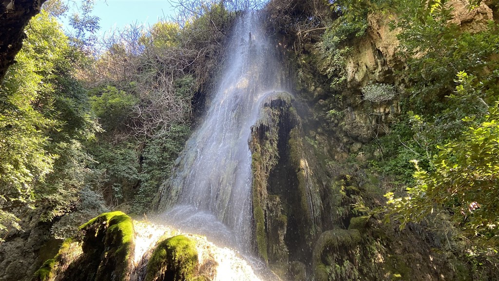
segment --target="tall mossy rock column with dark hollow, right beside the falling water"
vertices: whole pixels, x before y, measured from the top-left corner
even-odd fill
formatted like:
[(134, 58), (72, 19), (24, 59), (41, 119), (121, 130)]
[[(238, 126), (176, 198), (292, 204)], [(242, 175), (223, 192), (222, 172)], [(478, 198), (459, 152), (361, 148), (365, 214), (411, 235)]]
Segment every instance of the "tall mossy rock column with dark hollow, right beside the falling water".
[(322, 215), (293, 103), (286, 92), (268, 96), (250, 138), (256, 247), (281, 274), (289, 256), (307, 260)]

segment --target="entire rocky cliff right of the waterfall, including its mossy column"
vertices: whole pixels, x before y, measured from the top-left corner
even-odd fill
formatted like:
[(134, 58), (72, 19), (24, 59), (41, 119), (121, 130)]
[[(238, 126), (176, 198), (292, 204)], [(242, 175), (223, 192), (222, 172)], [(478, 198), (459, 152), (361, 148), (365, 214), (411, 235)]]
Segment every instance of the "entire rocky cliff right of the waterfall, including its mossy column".
[[(448, 2), (462, 30), (477, 32), (497, 21), (497, 1), (473, 10), (466, 3)], [(390, 27), (393, 18), (371, 13), (365, 33), (349, 40), (341, 90), (321, 68), (317, 42), (292, 50), (295, 98), (275, 97), (253, 126), (255, 248), (289, 280), (476, 277), (475, 265), (444, 250), (448, 233), (417, 224), (400, 230), (396, 222), (363, 215), (364, 207), (384, 204), (383, 194), (397, 184), (370, 168), (383, 157), (373, 140), (390, 133), (402, 114), (397, 93), (407, 83), (396, 74), (407, 65), (397, 54), (400, 30)], [(370, 84), (394, 94), (369, 100), (363, 89)], [(482, 277), (497, 274), (484, 268)]]

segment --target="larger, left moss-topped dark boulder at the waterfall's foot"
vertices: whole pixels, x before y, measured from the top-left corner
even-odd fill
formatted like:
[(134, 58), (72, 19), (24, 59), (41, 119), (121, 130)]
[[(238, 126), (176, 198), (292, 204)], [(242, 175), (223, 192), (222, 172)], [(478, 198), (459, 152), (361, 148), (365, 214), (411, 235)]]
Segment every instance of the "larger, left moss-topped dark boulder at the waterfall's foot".
[(129, 280), (135, 249), (132, 219), (121, 211), (107, 212), (80, 230), (82, 241), (66, 240), (59, 253), (36, 271), (34, 280)]

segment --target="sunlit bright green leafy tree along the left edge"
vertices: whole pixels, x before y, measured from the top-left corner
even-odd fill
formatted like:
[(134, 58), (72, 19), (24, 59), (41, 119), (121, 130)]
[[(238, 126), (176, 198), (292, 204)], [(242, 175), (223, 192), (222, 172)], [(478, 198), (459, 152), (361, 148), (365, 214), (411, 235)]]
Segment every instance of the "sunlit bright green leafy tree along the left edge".
[(26, 33), (0, 86), (2, 221), (16, 220), (12, 210), (35, 202), (46, 207), (47, 219), (68, 210), (88, 171), (81, 141), (99, 130), (73, 77), (80, 54), (55, 18), (42, 11)]

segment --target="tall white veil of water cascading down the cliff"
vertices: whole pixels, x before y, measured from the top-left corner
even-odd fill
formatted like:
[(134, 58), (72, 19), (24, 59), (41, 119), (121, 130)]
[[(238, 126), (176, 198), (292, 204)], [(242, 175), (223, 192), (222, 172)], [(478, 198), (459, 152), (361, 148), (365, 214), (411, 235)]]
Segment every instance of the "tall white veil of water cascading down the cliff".
[(256, 12), (237, 19), (227, 53), (209, 110), (177, 160), (162, 217), (246, 251), (253, 232), (250, 128), (260, 101), (285, 78)]

